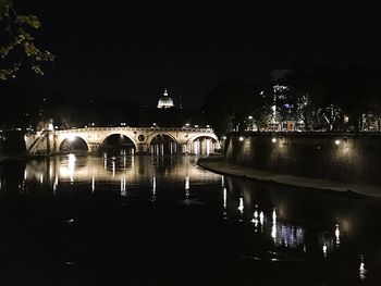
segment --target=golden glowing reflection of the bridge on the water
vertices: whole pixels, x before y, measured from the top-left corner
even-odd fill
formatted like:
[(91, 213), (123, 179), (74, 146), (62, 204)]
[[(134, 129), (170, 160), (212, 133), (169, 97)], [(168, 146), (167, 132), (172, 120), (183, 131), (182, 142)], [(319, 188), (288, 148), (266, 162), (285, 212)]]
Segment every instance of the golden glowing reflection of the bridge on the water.
[[(70, 153), (51, 158), (47, 161), (34, 161), (26, 164), (26, 181), (36, 181), (44, 184), (51, 184), (53, 191), (60, 189), (61, 182), (85, 183), (89, 190), (96, 190), (96, 186), (102, 183), (112, 183), (115, 185), (122, 196), (126, 195), (127, 182), (131, 186), (147, 184), (152, 187), (152, 195), (156, 195), (160, 184), (175, 187), (183, 185), (183, 189), (189, 192), (190, 182), (199, 184), (200, 182), (219, 182), (221, 175), (204, 171), (196, 166), (195, 159), (192, 157), (175, 156), (168, 160), (158, 157), (151, 161), (150, 157), (115, 156), (105, 152), (101, 157), (76, 156)], [(163, 166), (163, 161), (165, 161)], [(51, 174), (51, 179), (47, 174)], [(185, 184), (185, 187), (184, 187)], [(116, 187), (118, 186), (118, 187)]]

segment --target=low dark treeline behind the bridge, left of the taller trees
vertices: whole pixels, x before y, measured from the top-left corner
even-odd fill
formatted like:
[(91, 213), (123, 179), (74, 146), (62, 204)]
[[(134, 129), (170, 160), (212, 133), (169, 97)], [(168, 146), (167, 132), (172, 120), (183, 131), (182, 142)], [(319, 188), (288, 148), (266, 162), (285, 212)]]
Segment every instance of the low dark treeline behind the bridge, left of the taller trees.
[(38, 129), (53, 120), (58, 128), (84, 126), (156, 126), (180, 127), (206, 125), (198, 110), (139, 105), (130, 99), (110, 97), (72, 99), (61, 95), (40, 95), (14, 83), (0, 83), (1, 129)]

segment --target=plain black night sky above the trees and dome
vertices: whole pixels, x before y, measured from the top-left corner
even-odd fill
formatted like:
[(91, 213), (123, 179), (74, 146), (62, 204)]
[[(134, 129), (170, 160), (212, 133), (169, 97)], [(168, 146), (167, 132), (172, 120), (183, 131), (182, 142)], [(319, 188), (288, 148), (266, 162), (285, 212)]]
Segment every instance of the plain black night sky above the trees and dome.
[(377, 1), (15, 2), (40, 17), (37, 43), (58, 57), (28, 83), (70, 97), (155, 105), (167, 88), (175, 101), (182, 96), (185, 107), (199, 107), (224, 79), (251, 80), (299, 61), (381, 59)]

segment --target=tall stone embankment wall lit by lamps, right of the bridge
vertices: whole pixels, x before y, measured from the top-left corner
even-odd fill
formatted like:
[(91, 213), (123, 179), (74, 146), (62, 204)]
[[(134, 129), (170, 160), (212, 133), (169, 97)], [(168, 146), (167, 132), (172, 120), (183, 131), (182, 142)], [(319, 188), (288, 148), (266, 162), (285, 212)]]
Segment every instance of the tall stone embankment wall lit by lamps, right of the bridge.
[(282, 174), (381, 184), (380, 134), (231, 134), (225, 158)]

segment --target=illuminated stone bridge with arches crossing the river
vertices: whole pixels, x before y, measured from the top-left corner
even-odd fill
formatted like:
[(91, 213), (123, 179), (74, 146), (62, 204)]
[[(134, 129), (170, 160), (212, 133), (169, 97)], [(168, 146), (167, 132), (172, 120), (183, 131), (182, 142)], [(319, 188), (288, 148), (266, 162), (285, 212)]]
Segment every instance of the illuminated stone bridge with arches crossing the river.
[(220, 149), (218, 137), (211, 128), (164, 127), (88, 127), (53, 129), (25, 135), (29, 154), (60, 152), (99, 152), (108, 148), (123, 148), (131, 153), (209, 154)]

